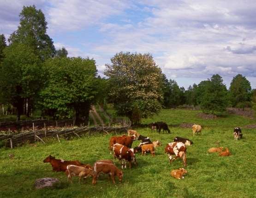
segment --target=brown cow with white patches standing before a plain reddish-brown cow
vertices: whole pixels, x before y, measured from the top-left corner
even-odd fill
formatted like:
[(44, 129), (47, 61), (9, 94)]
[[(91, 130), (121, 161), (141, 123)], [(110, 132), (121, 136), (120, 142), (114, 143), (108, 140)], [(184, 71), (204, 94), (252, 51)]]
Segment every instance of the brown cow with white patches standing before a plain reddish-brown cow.
[(118, 158), (119, 160), (122, 160), (122, 169), (124, 167), (126, 169), (127, 162), (129, 162), (130, 169), (131, 169), (131, 163), (137, 164), (133, 148), (128, 148), (125, 145), (121, 145), (117, 143), (117, 144), (114, 144), (113, 146), (113, 152), (114, 152), (114, 158)]

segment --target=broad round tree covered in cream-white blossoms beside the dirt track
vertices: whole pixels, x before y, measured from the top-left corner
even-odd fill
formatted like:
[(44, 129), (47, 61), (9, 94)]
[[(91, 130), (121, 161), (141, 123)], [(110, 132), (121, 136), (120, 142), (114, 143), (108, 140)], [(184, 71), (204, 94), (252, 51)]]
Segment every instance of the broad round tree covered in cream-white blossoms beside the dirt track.
[(162, 73), (150, 54), (120, 52), (106, 64), (109, 95), (118, 115), (132, 124), (161, 109)]

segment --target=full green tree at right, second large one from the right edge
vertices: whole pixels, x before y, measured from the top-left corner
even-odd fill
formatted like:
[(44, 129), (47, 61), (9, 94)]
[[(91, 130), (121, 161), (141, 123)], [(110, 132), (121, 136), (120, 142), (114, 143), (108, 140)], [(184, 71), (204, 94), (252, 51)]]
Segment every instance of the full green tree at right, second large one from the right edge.
[[(201, 84), (202, 83), (202, 84)], [(214, 74), (211, 79), (198, 85), (202, 91), (200, 106), (203, 111), (209, 113), (223, 113), (227, 107), (227, 89), (219, 74)]]

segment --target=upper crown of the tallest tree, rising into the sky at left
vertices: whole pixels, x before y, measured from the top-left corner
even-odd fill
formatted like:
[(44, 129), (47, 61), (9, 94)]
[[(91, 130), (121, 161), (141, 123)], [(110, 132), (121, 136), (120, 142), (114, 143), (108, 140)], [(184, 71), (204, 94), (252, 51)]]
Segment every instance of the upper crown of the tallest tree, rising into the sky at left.
[(55, 48), (52, 39), (46, 34), (47, 22), (43, 12), (34, 5), (23, 6), (19, 17), (20, 25), (8, 39), (10, 44), (23, 43), (30, 46), (42, 60), (53, 57)]

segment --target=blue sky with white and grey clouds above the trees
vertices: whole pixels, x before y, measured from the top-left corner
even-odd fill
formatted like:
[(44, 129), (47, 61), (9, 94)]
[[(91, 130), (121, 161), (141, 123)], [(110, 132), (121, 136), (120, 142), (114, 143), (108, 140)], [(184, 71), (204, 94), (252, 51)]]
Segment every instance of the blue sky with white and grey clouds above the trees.
[(45, 14), (47, 34), (70, 57), (105, 64), (120, 51), (150, 53), (185, 89), (219, 74), (256, 88), (255, 0), (0, 0), (0, 34), (18, 28), (23, 6)]

